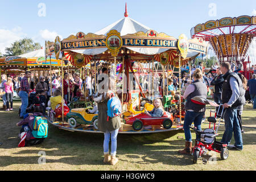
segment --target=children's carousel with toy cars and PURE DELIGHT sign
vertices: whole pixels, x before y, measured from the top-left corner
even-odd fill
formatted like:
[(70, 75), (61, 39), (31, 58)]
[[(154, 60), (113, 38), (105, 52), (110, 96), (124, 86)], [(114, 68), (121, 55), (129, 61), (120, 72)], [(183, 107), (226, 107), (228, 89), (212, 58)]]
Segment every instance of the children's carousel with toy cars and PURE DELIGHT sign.
[[(101, 62), (104, 61), (109, 64), (107, 68), (110, 74), (113, 73), (114, 80), (117, 82), (113, 91), (122, 104), (121, 121), (123, 123), (119, 133), (157, 133), (182, 129), (181, 114), (177, 114), (176, 117), (179, 120), (175, 120), (174, 114), (168, 113), (169, 110), (166, 111), (167, 114), (164, 114), (162, 119), (144, 119), (153, 122), (151, 124), (143, 122), (142, 127), (138, 126), (138, 123), (137, 127), (133, 127), (131, 123), (126, 124), (125, 121), (127, 118), (136, 118), (136, 114), (142, 112), (142, 102), (146, 101), (145, 108), (152, 109), (154, 106), (151, 103), (155, 98), (167, 96), (168, 93), (165, 89), (162, 89), (162, 93), (162, 90), (156, 86), (156, 78), (160, 74), (163, 75), (164, 88), (168, 85), (169, 76), (174, 73), (172, 67), (179, 68), (180, 73), (182, 65), (195, 59), (196, 56), (206, 53), (207, 44), (202, 39), (188, 40), (184, 34), (176, 39), (173, 36), (158, 33), (129, 18), (127, 6), (124, 16), (124, 18), (94, 34), (78, 32), (76, 35), (70, 35), (63, 40), (57, 36), (54, 43), (46, 42), (46, 57), (55, 53), (56, 59), (68, 60), (77, 68), (90, 63), (90, 72), (96, 73), (94, 75), (96, 78), (100, 73), (99, 65), (102, 65)], [(162, 69), (159, 71), (160, 67)], [(166, 72), (169, 74), (166, 75)], [(167, 78), (165, 78), (166, 76)], [(181, 80), (180, 74), (179, 80)], [(98, 81), (95, 79), (95, 92), (98, 90)], [(164, 83), (165, 81), (167, 83)], [(119, 87), (119, 85), (121, 86)], [(171, 101), (175, 101), (176, 108), (181, 110), (181, 93), (179, 92), (175, 98), (170, 96), (165, 101), (170, 102), (170, 105), (173, 104)], [(87, 107), (72, 109), (62, 122), (53, 122), (51, 119), (49, 122), (63, 130), (100, 133), (101, 131), (97, 129), (97, 115), (90, 115), (86, 112), (87, 109)], [(167, 119), (168, 122), (163, 123), (163, 120)], [(156, 120), (160, 122), (154, 122)], [(151, 127), (146, 129), (143, 125), (150, 125)]]

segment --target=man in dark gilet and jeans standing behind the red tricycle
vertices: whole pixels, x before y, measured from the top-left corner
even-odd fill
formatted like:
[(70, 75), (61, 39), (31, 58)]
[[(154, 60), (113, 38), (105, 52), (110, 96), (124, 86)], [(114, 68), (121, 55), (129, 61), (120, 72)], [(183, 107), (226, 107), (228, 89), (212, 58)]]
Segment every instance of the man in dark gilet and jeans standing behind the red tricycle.
[[(229, 147), (237, 150), (243, 149), (242, 133), (237, 118), (237, 106), (245, 104), (245, 98), (242, 97), (244, 90), (242, 88), (242, 81), (240, 77), (233, 73), (228, 62), (221, 64), (221, 72), (223, 73), (223, 86), (221, 100), (225, 110), (225, 132), (221, 142), (226, 143)], [(234, 132), (234, 146), (230, 145), (232, 135)]]

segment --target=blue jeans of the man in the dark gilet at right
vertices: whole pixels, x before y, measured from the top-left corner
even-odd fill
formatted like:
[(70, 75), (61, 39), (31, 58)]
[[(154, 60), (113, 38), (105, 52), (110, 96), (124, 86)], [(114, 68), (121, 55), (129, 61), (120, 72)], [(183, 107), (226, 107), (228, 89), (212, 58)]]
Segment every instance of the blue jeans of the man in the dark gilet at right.
[(229, 144), (232, 139), (232, 135), (234, 133), (234, 140), (235, 140), (234, 146), (242, 149), (243, 141), (242, 141), (241, 128), (237, 118), (237, 108), (229, 107), (228, 109), (226, 109), (224, 120), (225, 120), (225, 132), (223, 134), (221, 142)]

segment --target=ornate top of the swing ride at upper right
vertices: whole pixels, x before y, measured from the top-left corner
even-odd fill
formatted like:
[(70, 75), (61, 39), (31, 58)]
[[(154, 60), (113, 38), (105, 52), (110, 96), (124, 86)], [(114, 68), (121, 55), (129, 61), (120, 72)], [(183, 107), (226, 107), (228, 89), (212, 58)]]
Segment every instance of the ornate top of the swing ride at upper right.
[(191, 38), (209, 41), (220, 62), (244, 61), (255, 36), (256, 16), (209, 20), (191, 28)]

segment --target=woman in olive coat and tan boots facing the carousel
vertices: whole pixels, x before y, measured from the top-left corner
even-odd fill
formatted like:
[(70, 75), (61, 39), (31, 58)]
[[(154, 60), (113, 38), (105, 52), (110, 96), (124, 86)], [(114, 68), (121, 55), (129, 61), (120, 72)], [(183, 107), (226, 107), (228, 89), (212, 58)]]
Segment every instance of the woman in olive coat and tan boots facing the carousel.
[[(105, 79), (107, 80), (107, 79)], [(112, 79), (109, 79), (109, 85), (115, 84)], [(113, 88), (110, 87), (109, 88)], [(100, 92), (100, 91), (99, 91)], [(117, 153), (117, 134), (118, 130), (121, 127), (120, 117), (114, 117), (108, 119), (108, 100), (109, 94), (103, 92), (98, 94), (98, 97), (94, 98), (94, 101), (97, 102), (98, 105), (98, 129), (104, 133), (104, 163), (110, 162), (110, 164), (115, 165), (118, 162), (118, 159), (115, 157)], [(108, 121), (107, 121), (108, 119)], [(109, 156), (109, 140), (111, 137), (111, 157)]]

